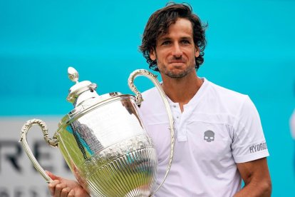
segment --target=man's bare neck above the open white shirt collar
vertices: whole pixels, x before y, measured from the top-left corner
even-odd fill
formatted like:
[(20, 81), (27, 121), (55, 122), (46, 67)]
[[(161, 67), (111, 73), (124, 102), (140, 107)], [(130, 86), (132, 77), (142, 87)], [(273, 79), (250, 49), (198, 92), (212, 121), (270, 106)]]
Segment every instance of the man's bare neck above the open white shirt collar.
[(162, 81), (162, 88), (165, 94), (171, 101), (180, 104), (181, 111), (183, 111), (183, 106), (197, 94), (203, 83), (202, 79), (198, 78), (195, 74), (190, 74), (190, 76), (179, 79), (162, 76)]

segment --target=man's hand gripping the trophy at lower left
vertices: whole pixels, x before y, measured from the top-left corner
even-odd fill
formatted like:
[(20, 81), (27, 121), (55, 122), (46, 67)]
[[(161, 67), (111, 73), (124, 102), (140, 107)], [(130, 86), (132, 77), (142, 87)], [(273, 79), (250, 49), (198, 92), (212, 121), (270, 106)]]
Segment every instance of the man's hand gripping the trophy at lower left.
[(89, 196), (82, 186), (77, 181), (69, 180), (54, 175), (53, 173), (46, 171), (48, 176), (53, 180), (48, 183), (48, 188), (53, 197), (79, 197)]

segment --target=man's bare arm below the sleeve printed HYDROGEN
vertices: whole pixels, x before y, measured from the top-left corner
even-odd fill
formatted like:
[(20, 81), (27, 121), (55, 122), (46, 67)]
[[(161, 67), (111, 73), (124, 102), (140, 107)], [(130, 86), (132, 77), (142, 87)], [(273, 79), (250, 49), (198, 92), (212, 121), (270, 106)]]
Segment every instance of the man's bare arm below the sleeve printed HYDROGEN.
[(235, 197), (271, 196), (271, 178), (266, 158), (237, 163), (237, 168), (241, 173), (245, 186), (235, 194)]

